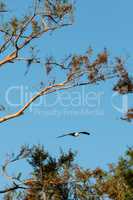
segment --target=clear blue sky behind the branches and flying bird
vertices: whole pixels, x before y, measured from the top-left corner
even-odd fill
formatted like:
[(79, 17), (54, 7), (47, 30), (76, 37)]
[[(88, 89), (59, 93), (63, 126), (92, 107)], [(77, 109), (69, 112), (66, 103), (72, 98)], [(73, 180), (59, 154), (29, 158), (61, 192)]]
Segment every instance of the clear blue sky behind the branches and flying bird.
[[(12, 4), (11, 0), (7, 2)], [(13, 8), (21, 12), (21, 1), (14, 0), (13, 2)], [(23, 5), (26, 5), (26, 2)], [(52, 35), (44, 36), (38, 41), (42, 57), (52, 54), (57, 58), (62, 58), (69, 53), (84, 53), (91, 45), (96, 53), (107, 47), (111, 56), (129, 54), (132, 63), (132, 8), (132, 0), (77, 1), (75, 24), (56, 31)], [(132, 65), (128, 68), (132, 70)], [(29, 85), (29, 90), (36, 87), (40, 78), (44, 76), (42, 68), (38, 66), (33, 66), (26, 77), (23, 75), (24, 72), (25, 66), (19, 63), (14, 66), (7, 65), (1, 69), (1, 101), (4, 102), (4, 93), (9, 86)], [(87, 168), (106, 167), (107, 163), (115, 162), (127, 146), (133, 144), (133, 134), (132, 125), (119, 120), (121, 113), (111, 105), (113, 83), (114, 80), (105, 84), (101, 83), (96, 87), (87, 86), (76, 89), (81, 97), (83, 92), (85, 95), (89, 92), (96, 92), (98, 95), (103, 93), (98, 112), (93, 114), (82, 115), (81, 113), (90, 111), (90, 105), (81, 104), (77, 107), (64, 108), (57, 103), (52, 108), (40, 107), (41, 114), (35, 114), (35, 111), (26, 112), (18, 119), (1, 124), (0, 162), (3, 161), (6, 153), (17, 152), (22, 144), (37, 143), (43, 144), (52, 155), (57, 155), (60, 147), (65, 151), (72, 148), (78, 151), (77, 162)], [(71, 92), (75, 95), (73, 90)], [(50, 102), (55, 101), (55, 98), (54, 95), (48, 97)], [(120, 96), (113, 99), (117, 106), (121, 106), (121, 101)], [(68, 116), (64, 114), (64, 109), (69, 113)], [(49, 110), (60, 113), (60, 116), (48, 116), (46, 112)], [(8, 112), (10, 111), (12, 110), (9, 109)], [(78, 116), (70, 115), (70, 111), (77, 111), (79, 114)], [(56, 139), (56, 136), (60, 134), (75, 130), (90, 131), (92, 134), (90, 137), (82, 136), (78, 139), (71, 137)]]

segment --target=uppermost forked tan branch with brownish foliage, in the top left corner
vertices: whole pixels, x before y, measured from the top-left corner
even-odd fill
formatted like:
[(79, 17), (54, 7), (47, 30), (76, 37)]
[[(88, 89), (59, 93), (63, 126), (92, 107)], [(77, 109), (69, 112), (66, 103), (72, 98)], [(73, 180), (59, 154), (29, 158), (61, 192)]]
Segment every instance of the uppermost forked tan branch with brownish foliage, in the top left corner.
[[(55, 4), (50, 4), (50, 6), (52, 6), (51, 8), (53, 9), (55, 7), (54, 13), (39, 13), (38, 12), (38, 5), (39, 5), (40, 1), (35, 0), (34, 1), (34, 13), (31, 17), (28, 17), (28, 19), (26, 20), (26, 22), (23, 24), (21, 21), (18, 21), (16, 18), (14, 19), (14, 26), (15, 26), (15, 32), (14, 30), (12, 31), (12, 33), (10, 33), (7, 30), (4, 30), (3, 28), (0, 28), (0, 32), (4, 33), (5, 36), (8, 36), (9, 38), (4, 42), (4, 44), (0, 47), (0, 52), (3, 52), (7, 47), (8, 44), (12, 42), (13, 47), (15, 48), (14, 51), (12, 51), (10, 54), (8, 54), (7, 56), (5, 56), (4, 59), (2, 59), (0, 61), (0, 67), (2, 67), (4, 64), (6, 63), (10, 63), (12, 62), (14, 59), (16, 59), (18, 57), (18, 53), (21, 49), (23, 49), (25, 46), (27, 46), (33, 39), (41, 37), (44, 33), (48, 32), (48, 31), (54, 31), (56, 29), (59, 29), (61, 27), (64, 26), (68, 26), (68, 25), (72, 25), (72, 23), (63, 23), (62, 19), (65, 17), (65, 15), (68, 15), (69, 12), (72, 9), (72, 5), (70, 4), (62, 4), (60, 3), (60, 5), (57, 4), (57, 2), (55, 2)], [(62, 17), (59, 15), (62, 15)], [(42, 24), (38, 26), (39, 20), (37, 20), (38, 22), (35, 21), (35, 18), (39, 17)], [(49, 25), (47, 25), (47, 21), (45, 21), (45, 18), (50, 19), (50, 21), (54, 22), (53, 23), (49, 23)], [(56, 18), (59, 18), (59, 22), (61, 23), (57, 23), (56, 22)], [(20, 24), (18, 24), (20, 23)], [(33, 30), (33, 26), (31, 29), (31, 34), (29, 35), (24, 35), (24, 33), (26, 32), (27, 28), (29, 27), (29, 25), (33, 25), (35, 30)], [(13, 21), (12, 21), (12, 26), (13, 26)], [(39, 30), (39, 29), (40, 30)], [(17, 33), (19, 32), (19, 33)], [(24, 41), (21, 41), (20, 39), (25, 39)], [(13, 41), (12, 41), (13, 40)], [(20, 40), (20, 42), (19, 42)]]

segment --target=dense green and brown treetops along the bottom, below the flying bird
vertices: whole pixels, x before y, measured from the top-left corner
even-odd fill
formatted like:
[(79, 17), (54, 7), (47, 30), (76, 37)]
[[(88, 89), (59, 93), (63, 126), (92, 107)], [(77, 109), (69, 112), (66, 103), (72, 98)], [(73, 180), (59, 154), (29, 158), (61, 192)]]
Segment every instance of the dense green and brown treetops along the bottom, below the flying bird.
[[(133, 148), (108, 170), (83, 169), (75, 163), (76, 153), (62, 150), (52, 157), (41, 145), (23, 146), (18, 155), (11, 155), (3, 165), (3, 175), (10, 180), (5, 193), (8, 200), (131, 200), (133, 197)], [(29, 178), (22, 173), (10, 176), (7, 167), (20, 159), (31, 166)]]

